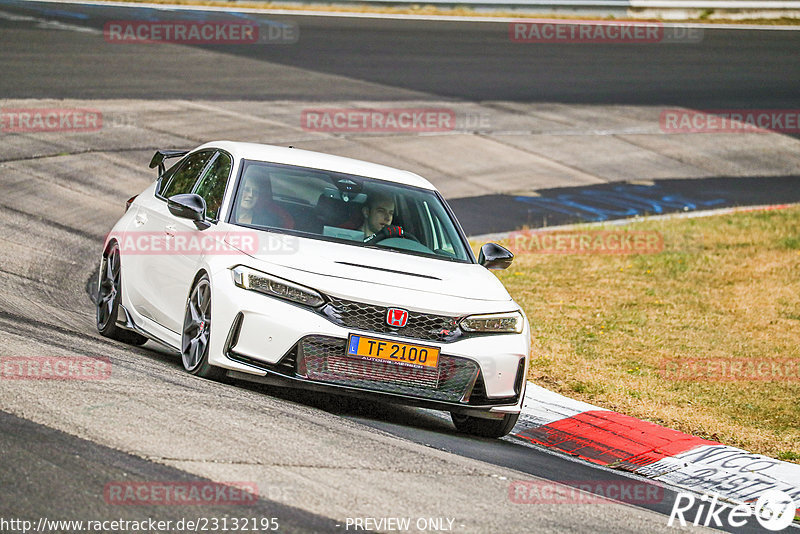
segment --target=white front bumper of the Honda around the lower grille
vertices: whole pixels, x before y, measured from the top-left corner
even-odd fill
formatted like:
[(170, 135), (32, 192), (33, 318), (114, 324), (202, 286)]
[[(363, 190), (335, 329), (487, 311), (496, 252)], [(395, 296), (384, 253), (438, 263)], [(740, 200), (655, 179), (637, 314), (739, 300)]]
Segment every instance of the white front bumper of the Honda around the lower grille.
[[(209, 362), (229, 369), (232, 377), (487, 417), (521, 408), (530, 351), (527, 323), (520, 334), (470, 335), (450, 342), (376, 333), (241, 289), (225, 274), (212, 284)], [(438, 347), (438, 367), (348, 357), (350, 334)]]

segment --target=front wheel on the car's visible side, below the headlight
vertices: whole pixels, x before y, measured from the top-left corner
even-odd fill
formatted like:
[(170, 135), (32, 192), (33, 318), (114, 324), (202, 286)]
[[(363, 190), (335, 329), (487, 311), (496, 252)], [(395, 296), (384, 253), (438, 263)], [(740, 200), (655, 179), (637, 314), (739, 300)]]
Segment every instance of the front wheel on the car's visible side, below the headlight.
[(181, 360), (189, 373), (220, 380), (225, 371), (208, 363), (208, 347), (211, 344), (211, 282), (203, 275), (192, 287), (186, 301), (181, 335)]

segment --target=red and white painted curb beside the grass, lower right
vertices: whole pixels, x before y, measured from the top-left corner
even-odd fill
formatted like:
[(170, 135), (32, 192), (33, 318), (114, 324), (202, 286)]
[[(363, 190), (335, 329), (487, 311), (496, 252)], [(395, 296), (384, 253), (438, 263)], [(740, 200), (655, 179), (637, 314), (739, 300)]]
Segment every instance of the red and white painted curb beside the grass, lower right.
[(598, 408), (531, 382), (512, 435), (587, 462), (693, 492), (717, 494), (734, 503), (752, 503), (764, 492), (777, 489), (800, 506), (798, 464)]

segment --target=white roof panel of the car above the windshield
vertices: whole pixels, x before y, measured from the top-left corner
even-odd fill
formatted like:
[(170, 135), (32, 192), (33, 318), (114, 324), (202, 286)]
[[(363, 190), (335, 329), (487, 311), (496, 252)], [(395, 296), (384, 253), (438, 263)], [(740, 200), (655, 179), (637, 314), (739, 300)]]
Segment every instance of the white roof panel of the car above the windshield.
[(214, 141), (206, 143), (195, 150), (207, 148), (220, 148), (230, 153), (237, 160), (248, 159), (270, 163), (282, 163), (285, 165), (297, 165), (300, 167), (310, 167), (313, 169), (365, 176), (367, 178), (377, 178), (379, 180), (421, 187), (423, 189), (436, 189), (428, 180), (410, 171), (403, 171), (353, 158), (323, 154), (322, 152), (237, 141)]

